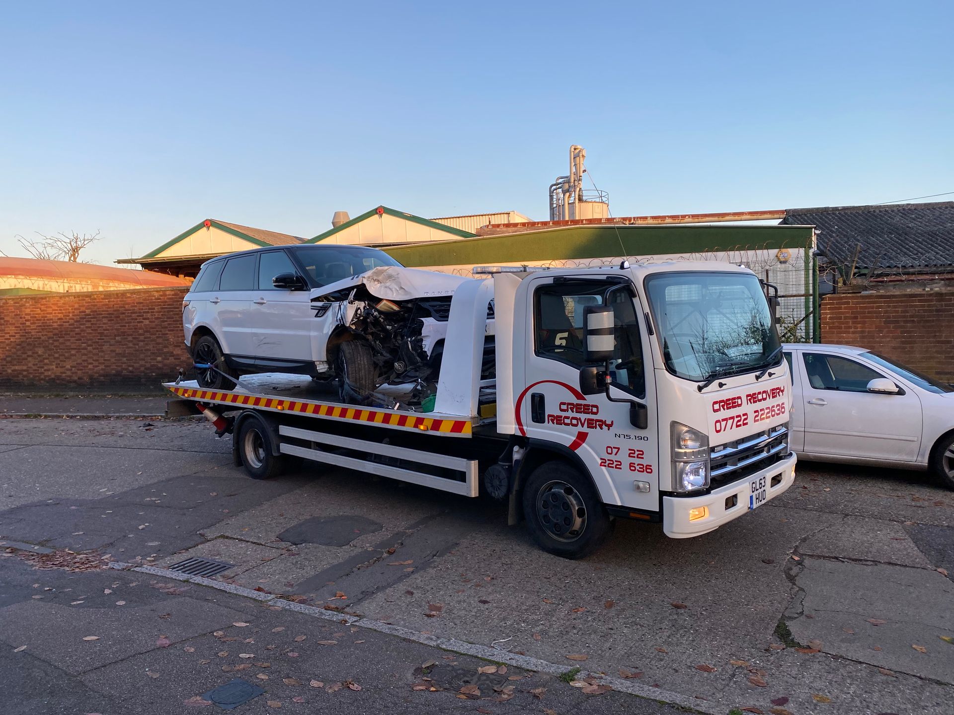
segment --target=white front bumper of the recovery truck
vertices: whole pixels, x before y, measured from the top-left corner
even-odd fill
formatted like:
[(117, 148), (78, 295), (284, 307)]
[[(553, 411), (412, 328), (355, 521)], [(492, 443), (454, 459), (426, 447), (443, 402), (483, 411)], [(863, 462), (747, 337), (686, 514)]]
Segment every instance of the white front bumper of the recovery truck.
[[(767, 485), (765, 501), (775, 499), (795, 481), (795, 461), (795, 453), (792, 453), (787, 459), (778, 461), (767, 469), (744, 480), (726, 484), (701, 497), (663, 497), (663, 532), (673, 539), (688, 539), (715, 531), (722, 524), (746, 514), (750, 511), (752, 485), (761, 477), (765, 477)], [(690, 521), (694, 509), (697, 510), (693, 512), (696, 515), (704, 510), (704, 516)]]

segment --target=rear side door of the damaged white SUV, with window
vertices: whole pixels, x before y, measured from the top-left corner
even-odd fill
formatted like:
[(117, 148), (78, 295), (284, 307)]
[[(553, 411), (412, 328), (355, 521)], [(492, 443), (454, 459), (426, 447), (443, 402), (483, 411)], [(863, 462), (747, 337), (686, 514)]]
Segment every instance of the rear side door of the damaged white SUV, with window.
[(257, 254), (242, 254), (225, 261), (218, 279), (218, 290), (209, 299), (215, 311), (216, 330), (222, 352), (239, 366), (255, 364), (252, 329), (252, 297), (256, 285)]

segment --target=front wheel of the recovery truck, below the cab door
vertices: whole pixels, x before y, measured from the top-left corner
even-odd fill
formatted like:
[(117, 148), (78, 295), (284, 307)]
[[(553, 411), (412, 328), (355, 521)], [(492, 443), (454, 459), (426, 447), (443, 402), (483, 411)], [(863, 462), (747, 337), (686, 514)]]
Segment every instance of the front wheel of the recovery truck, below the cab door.
[(534, 469), (523, 502), (533, 541), (555, 556), (590, 556), (612, 534), (613, 521), (590, 480), (564, 461)]

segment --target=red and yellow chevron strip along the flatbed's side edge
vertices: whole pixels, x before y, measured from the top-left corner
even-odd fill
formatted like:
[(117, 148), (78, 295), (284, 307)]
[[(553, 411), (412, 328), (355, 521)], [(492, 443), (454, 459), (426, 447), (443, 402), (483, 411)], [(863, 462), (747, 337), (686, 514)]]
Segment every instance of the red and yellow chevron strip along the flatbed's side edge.
[(235, 392), (217, 392), (215, 390), (197, 390), (192, 387), (170, 386), (169, 391), (180, 398), (206, 400), (218, 404), (231, 403), (260, 407), (265, 410), (279, 412), (294, 412), (300, 415), (316, 415), (318, 417), (334, 419), (353, 419), (358, 422), (376, 422), (381, 425), (419, 429), (423, 432), (444, 432), (454, 435), (469, 435), (470, 420), (468, 419), (434, 419), (407, 415), (398, 412), (383, 412), (381, 410), (366, 409), (363, 407), (346, 407), (343, 405), (322, 404), (321, 402), (301, 402), (294, 399), (257, 398), (254, 395), (242, 395)]

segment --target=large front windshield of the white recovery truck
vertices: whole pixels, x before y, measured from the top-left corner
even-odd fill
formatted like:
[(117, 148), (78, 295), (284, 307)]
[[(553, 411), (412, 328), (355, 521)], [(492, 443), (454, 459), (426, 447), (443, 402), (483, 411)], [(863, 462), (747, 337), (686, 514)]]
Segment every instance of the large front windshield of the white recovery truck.
[(695, 381), (780, 362), (778, 331), (758, 278), (743, 273), (661, 273), (646, 293), (666, 369)]

